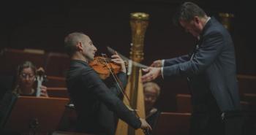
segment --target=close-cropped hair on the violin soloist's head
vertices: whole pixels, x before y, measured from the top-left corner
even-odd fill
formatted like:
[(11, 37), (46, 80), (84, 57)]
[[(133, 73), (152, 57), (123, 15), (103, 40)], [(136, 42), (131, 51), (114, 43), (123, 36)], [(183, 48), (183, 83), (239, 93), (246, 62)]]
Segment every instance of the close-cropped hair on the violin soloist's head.
[(64, 39), (64, 47), (69, 56), (72, 56), (78, 49), (76, 45), (78, 45), (79, 42), (87, 42), (90, 40), (89, 36), (86, 34), (83, 34), (81, 32), (74, 32), (69, 35), (67, 35)]

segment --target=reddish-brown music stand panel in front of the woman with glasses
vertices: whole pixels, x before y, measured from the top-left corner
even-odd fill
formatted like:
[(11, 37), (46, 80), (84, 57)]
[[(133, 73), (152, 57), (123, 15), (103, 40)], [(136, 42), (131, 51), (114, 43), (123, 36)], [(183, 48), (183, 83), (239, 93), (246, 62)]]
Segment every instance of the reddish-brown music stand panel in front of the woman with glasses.
[(20, 96), (12, 109), (5, 128), (7, 131), (27, 133), (37, 120), (37, 132), (55, 131), (69, 99)]

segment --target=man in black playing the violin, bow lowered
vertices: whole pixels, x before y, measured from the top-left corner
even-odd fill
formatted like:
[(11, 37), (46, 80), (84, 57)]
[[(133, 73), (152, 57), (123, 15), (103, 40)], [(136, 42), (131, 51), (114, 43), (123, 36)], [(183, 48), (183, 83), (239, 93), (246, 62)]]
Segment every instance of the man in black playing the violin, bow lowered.
[[(94, 69), (91, 69), (89, 61), (94, 60), (97, 48), (89, 36), (75, 32), (66, 36), (64, 42), (65, 50), (71, 58), (67, 72), (67, 88), (75, 104), (79, 132), (113, 135), (115, 133), (113, 114), (133, 128), (151, 128), (146, 120), (136, 117), (135, 113), (127, 109), (118, 99), (115, 87), (108, 88)], [(125, 85), (124, 61), (118, 55), (113, 55), (112, 58), (113, 62), (121, 65), (123, 73), (118, 76)]]

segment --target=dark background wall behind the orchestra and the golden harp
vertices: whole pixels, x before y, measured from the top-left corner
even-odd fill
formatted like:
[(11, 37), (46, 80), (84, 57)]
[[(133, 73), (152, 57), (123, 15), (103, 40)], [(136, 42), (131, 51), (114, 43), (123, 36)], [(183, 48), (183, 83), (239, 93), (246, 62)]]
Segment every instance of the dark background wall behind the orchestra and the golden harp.
[[(255, 9), (248, 1), (195, 1), (208, 15), (219, 12), (235, 15), (232, 36), (236, 47), (238, 74), (256, 75), (253, 31)], [(195, 39), (173, 26), (171, 18), (182, 1), (8, 1), (1, 4), (0, 49), (36, 48), (48, 52), (64, 52), (64, 36), (81, 31), (91, 36), (99, 53), (106, 46), (129, 56), (131, 31), (129, 14), (150, 15), (144, 46), (145, 64), (162, 58), (173, 58), (192, 50)], [(4, 63), (7, 64), (7, 63)], [(176, 107), (176, 93), (189, 93), (184, 78), (158, 79), (162, 88), (158, 106), (165, 111)], [(164, 104), (167, 102), (168, 104)]]

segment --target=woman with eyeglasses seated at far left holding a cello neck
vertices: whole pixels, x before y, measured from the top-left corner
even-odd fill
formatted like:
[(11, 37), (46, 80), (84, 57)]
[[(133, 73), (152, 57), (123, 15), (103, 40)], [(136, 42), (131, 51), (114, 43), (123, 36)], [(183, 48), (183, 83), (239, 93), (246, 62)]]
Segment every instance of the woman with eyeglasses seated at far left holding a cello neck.
[(37, 82), (42, 81), (37, 79), (39, 76), (37, 72), (37, 68), (30, 61), (25, 61), (18, 66), (14, 87), (12, 90), (8, 90), (0, 101), (0, 134), (4, 132), (1, 131), (1, 128), (3, 128), (4, 121), (18, 96), (48, 97), (47, 88), (44, 85), (37, 87)]

